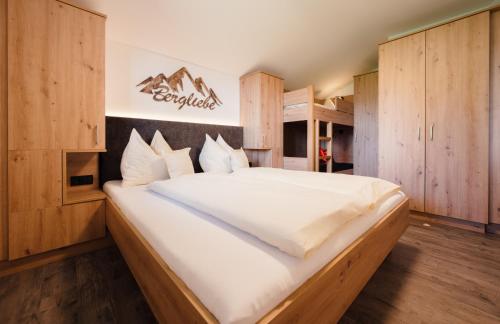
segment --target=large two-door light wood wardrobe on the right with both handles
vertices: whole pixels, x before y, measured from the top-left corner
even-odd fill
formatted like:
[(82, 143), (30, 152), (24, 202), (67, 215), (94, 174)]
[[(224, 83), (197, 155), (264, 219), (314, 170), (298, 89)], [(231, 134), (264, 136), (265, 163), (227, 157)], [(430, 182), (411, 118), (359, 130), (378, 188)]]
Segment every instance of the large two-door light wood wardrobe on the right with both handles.
[(490, 13), (379, 48), (379, 176), (413, 210), (488, 223)]

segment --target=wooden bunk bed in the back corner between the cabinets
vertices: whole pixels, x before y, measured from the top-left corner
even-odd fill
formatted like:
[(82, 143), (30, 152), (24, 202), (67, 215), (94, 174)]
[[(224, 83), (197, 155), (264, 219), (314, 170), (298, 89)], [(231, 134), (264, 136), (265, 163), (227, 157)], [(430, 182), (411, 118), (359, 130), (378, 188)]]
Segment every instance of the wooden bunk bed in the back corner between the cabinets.
[(285, 92), (284, 168), (352, 174), (353, 125), (352, 113), (315, 102), (313, 86)]

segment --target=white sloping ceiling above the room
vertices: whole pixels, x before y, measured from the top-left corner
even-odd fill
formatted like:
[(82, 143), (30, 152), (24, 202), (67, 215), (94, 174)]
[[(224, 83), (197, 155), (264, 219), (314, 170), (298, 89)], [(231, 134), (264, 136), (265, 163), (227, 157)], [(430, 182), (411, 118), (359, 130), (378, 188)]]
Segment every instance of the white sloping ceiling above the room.
[(325, 97), (377, 67), (377, 44), (492, 0), (76, 0), (107, 37), (197, 65), (314, 84)]

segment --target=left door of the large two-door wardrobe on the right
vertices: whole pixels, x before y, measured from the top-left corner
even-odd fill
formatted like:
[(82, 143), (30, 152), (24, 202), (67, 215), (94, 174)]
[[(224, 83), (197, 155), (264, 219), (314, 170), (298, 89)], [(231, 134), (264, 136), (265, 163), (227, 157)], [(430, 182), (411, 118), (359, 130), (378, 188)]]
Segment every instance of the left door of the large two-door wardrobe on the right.
[(425, 33), (379, 48), (378, 176), (401, 186), (424, 211)]

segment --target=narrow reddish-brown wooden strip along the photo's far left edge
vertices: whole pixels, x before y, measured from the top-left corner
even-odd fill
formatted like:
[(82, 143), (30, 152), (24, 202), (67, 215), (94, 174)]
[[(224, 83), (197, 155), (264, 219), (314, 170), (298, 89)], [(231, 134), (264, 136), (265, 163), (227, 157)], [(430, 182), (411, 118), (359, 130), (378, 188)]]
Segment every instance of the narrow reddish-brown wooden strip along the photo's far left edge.
[(7, 259), (7, 0), (0, 0), (0, 261)]

